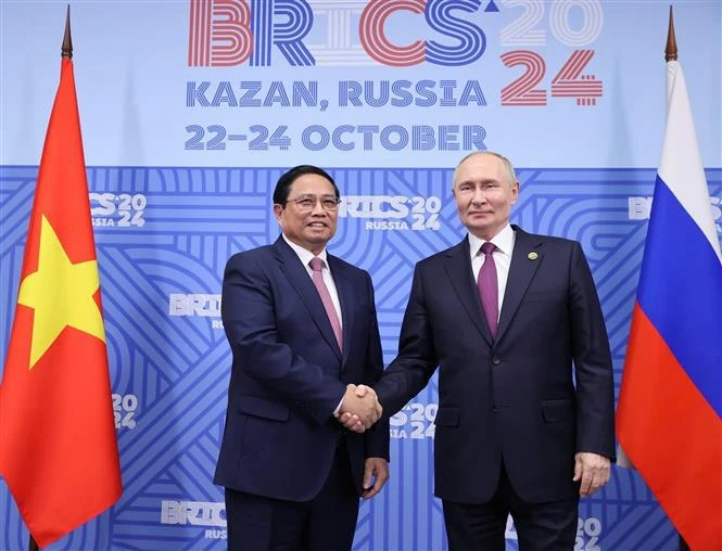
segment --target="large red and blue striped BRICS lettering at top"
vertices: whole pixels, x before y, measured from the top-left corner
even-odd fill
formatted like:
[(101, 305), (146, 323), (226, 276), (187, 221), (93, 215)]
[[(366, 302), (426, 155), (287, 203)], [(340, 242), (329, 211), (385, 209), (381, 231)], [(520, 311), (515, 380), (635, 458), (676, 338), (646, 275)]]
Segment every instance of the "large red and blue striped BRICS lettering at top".
[[(267, 67), (279, 55), (292, 66), (468, 65), (486, 49), (474, 23), (481, 12), (498, 8), (494, 0), (190, 0), (188, 65)], [(314, 15), (326, 20), (314, 35), (325, 30), (325, 43), (307, 44)], [(390, 33), (418, 17), (438, 40)]]

